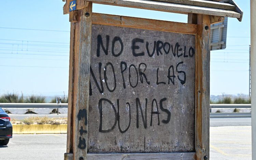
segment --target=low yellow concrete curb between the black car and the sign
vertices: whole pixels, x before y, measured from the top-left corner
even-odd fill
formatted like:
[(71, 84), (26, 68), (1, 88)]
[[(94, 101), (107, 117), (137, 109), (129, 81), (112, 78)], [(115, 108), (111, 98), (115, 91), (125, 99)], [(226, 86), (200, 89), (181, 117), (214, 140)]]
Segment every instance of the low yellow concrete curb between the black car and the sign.
[(13, 134), (65, 134), (67, 124), (13, 125)]

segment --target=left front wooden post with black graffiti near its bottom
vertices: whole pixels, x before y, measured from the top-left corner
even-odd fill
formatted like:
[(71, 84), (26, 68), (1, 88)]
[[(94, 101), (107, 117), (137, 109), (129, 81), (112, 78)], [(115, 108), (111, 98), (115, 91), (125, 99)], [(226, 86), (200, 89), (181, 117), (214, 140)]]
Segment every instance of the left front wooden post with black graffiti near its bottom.
[[(88, 105), (92, 3), (78, 13), (73, 61), (72, 146), (73, 160), (87, 159)], [(70, 86), (72, 88), (72, 86)], [(70, 89), (70, 88), (69, 88)], [(68, 151), (68, 150), (67, 150)]]

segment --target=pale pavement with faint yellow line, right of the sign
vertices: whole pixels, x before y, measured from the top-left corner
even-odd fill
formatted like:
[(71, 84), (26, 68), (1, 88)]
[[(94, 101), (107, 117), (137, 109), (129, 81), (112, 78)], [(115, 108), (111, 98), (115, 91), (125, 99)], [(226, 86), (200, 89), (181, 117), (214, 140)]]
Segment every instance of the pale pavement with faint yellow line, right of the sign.
[(210, 127), (210, 159), (251, 160), (251, 126)]

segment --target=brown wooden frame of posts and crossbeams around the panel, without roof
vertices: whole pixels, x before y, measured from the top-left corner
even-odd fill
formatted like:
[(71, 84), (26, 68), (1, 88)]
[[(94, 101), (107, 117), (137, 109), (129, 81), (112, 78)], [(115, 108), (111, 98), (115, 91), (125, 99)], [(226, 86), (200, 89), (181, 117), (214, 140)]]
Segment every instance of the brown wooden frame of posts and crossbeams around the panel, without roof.
[[(77, 113), (84, 106), (88, 108), (89, 74), (81, 76), (80, 70), (87, 70), (90, 65), (90, 37), (91, 25), (110, 25), (118, 27), (141, 28), (166, 32), (177, 32), (196, 35), (196, 82), (195, 82), (195, 118), (196, 118), (196, 153), (165, 153), (165, 154), (88, 154), (88, 159), (136, 159), (145, 155), (156, 159), (197, 159), (209, 157), (209, 81), (210, 81), (210, 24), (211, 16), (191, 14), (190, 23), (175, 23), (144, 18), (133, 18), (116, 15), (106, 15), (91, 12), (91, 3), (80, 11), (70, 14), (71, 43), (70, 43), (70, 79), (69, 79), (69, 107), (68, 107), (68, 140), (66, 160), (82, 160), (87, 157), (87, 149), (79, 149), (79, 130), (82, 126), (87, 130), (83, 121), (77, 120)], [(138, 23), (139, 22), (139, 23)], [(165, 27), (157, 24), (163, 23)], [(166, 27), (168, 26), (168, 27)], [(208, 29), (207, 29), (208, 26)], [(83, 36), (82, 36), (83, 35)], [(82, 79), (80, 77), (86, 77)], [(87, 81), (87, 82), (86, 82)], [(87, 113), (88, 114), (88, 113)], [(84, 136), (83, 136), (84, 137)], [(86, 133), (87, 137), (87, 133)], [(85, 140), (87, 142), (87, 140)], [(87, 147), (87, 146), (86, 146)], [(172, 157), (169, 157), (172, 156)]]

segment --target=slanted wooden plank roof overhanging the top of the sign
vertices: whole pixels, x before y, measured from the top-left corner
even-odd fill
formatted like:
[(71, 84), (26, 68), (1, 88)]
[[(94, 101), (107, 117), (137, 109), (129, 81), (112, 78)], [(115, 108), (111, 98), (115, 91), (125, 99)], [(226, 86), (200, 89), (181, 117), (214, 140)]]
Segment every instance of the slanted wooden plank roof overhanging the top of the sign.
[[(82, 0), (77, 0), (82, 1)], [(243, 11), (233, 0), (86, 0), (88, 2), (125, 6), (174, 13), (195, 13), (212, 16), (233, 17), (242, 20)], [(86, 1), (84, 4), (86, 5)], [(71, 0), (66, 0), (64, 14), (69, 13)], [(79, 4), (80, 5), (80, 4)], [(79, 7), (77, 5), (77, 7)]]

